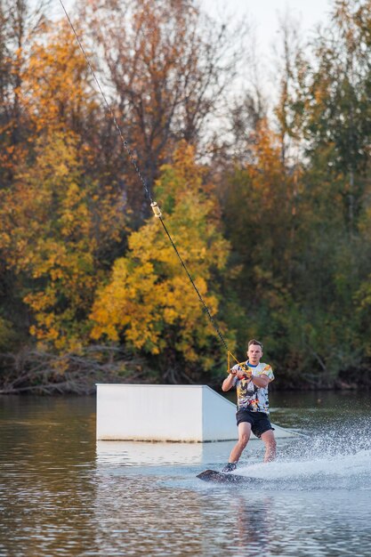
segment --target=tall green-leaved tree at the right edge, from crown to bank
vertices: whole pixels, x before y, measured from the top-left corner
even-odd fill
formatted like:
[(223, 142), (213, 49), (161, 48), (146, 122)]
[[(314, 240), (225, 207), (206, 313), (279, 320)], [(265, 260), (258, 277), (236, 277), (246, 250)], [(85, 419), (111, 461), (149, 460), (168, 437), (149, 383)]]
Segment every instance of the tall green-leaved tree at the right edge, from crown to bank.
[(335, 2), (331, 26), (314, 41), (296, 107), (307, 157), (296, 296), (305, 307), (308, 344), (333, 375), (361, 360), (355, 295), (370, 271), (369, 242), (359, 228), (365, 230), (369, 195), (370, 25), (370, 2)]

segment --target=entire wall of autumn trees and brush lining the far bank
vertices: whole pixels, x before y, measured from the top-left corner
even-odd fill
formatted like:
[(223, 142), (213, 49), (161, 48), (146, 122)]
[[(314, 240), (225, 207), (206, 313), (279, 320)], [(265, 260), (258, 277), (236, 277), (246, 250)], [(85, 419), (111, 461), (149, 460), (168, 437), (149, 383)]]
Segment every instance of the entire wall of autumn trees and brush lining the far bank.
[(231, 352), (261, 340), (273, 389), (369, 389), (371, 0), (311, 39), (281, 19), (271, 84), (247, 20), (73, 3), (132, 159), (48, 4), (0, 0), (0, 392), (222, 383), (146, 191)]

